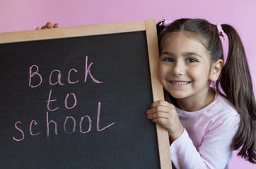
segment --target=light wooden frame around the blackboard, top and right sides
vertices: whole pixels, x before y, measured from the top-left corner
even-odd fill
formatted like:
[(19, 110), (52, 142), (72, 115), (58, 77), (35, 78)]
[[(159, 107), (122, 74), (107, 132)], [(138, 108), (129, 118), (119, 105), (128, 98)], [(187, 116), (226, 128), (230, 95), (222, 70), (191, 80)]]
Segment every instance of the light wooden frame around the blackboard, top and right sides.
[[(77, 27), (61, 27), (58, 29), (48, 30), (6, 32), (0, 34), (0, 44), (11, 42), (27, 42), (43, 39), (60, 39), (66, 37), (83, 37), (88, 35), (107, 35), (136, 31), (146, 31), (153, 101), (164, 100), (163, 87), (158, 81), (157, 75), (159, 52), (155, 20), (143, 20), (129, 23), (110, 23), (102, 25), (86, 25)], [(159, 125), (156, 125), (156, 130), (161, 168), (172, 168), (170, 161), (168, 132)]]

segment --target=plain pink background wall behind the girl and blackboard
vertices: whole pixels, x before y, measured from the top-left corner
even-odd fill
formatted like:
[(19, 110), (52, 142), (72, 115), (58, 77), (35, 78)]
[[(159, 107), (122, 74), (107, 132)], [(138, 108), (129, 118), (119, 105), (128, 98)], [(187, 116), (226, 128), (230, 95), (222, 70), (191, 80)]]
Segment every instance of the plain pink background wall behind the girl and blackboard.
[[(158, 22), (162, 17), (205, 18), (214, 24), (228, 23), (243, 40), (255, 90), (255, 8), (255, 0), (1, 0), (0, 32), (34, 30), (48, 21), (62, 27), (149, 19)], [(231, 162), (231, 169), (255, 167), (237, 156)]]

